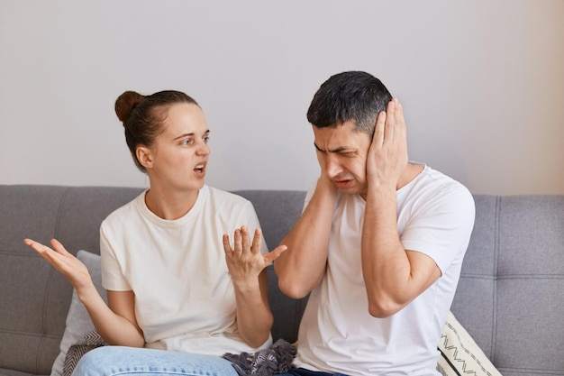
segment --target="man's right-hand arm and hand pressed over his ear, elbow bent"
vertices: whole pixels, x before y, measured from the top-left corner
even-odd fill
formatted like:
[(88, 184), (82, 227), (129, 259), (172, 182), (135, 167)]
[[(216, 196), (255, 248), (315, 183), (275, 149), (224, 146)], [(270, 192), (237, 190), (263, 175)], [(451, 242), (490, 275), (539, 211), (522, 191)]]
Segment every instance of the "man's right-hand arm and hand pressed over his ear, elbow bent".
[(396, 190), (416, 174), (408, 164), (402, 106), (393, 99), (378, 115), (367, 160), (361, 255), (372, 316), (395, 314), (441, 277), (432, 258), (405, 250), (397, 233)]

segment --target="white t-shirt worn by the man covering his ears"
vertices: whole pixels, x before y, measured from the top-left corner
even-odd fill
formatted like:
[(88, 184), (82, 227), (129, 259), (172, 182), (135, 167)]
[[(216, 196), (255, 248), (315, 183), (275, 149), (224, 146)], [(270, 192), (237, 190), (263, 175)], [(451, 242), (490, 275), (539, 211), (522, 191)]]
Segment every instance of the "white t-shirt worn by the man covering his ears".
[(327, 271), (305, 308), (295, 365), (349, 375), (439, 375), (437, 344), (474, 225), (473, 197), (459, 182), (426, 166), (397, 191), (401, 242), (432, 257), (442, 275), (387, 318), (368, 313), (360, 261), (364, 210), (359, 195), (338, 195)]

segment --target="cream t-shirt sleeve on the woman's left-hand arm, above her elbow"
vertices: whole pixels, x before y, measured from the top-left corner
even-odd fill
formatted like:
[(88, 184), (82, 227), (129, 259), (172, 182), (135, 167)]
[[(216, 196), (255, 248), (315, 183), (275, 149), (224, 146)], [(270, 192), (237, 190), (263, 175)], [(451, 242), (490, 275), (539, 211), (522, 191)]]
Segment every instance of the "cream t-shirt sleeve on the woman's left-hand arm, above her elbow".
[(102, 262), (102, 286), (112, 291), (129, 291), (131, 286), (123, 277), (120, 262), (114, 252), (104, 223), (100, 226), (100, 256)]

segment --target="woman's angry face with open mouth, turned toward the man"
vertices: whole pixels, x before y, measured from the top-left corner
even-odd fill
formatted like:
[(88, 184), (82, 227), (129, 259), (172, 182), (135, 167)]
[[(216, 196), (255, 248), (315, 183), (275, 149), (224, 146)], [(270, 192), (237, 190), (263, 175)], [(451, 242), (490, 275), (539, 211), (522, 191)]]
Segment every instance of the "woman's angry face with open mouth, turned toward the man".
[(210, 155), (204, 113), (194, 104), (170, 105), (163, 128), (148, 149), (151, 186), (180, 191), (202, 188)]

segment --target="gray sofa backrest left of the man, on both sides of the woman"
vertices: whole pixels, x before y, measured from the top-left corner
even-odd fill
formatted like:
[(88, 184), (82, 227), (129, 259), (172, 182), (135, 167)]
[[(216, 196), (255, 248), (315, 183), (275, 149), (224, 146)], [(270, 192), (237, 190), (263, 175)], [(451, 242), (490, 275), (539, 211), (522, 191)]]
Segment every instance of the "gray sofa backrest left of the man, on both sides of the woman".
[[(99, 254), (99, 227), (141, 188), (0, 186), (0, 374), (2, 369), (49, 374), (59, 354), (72, 287), (47, 261), (23, 244), (57, 238), (68, 252)], [(270, 248), (300, 216), (305, 192), (246, 190)], [(296, 339), (305, 300), (287, 298), (268, 269), (275, 338)], [(9, 308), (6, 308), (9, 307)]]

